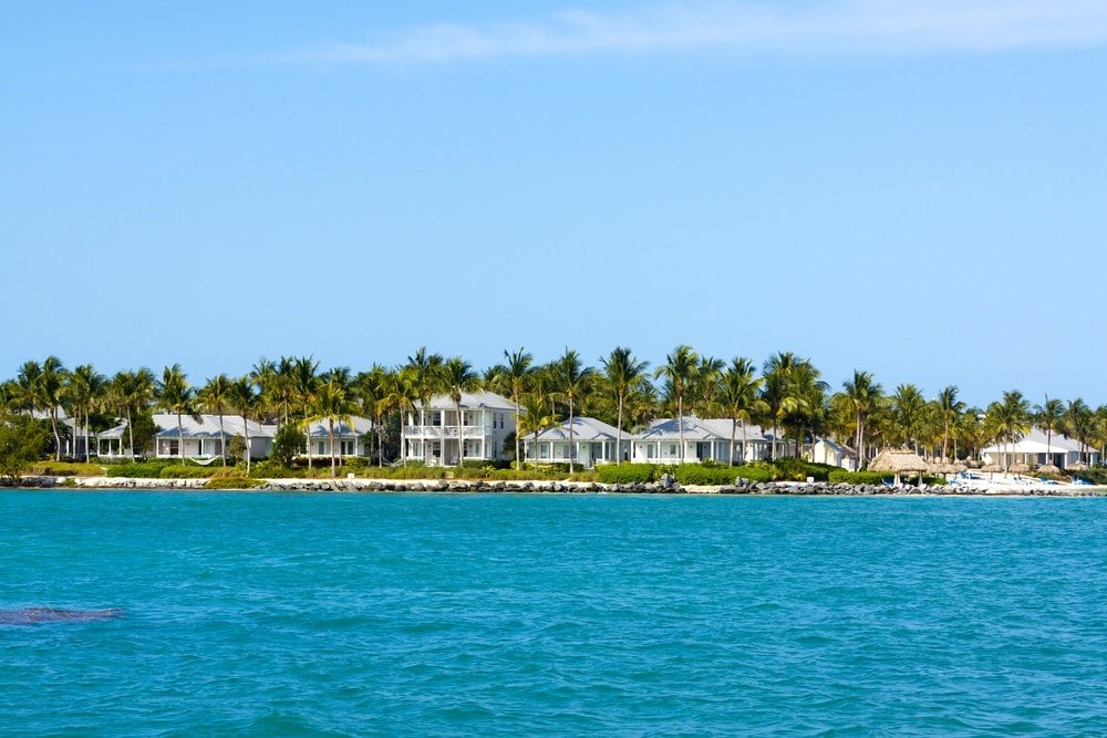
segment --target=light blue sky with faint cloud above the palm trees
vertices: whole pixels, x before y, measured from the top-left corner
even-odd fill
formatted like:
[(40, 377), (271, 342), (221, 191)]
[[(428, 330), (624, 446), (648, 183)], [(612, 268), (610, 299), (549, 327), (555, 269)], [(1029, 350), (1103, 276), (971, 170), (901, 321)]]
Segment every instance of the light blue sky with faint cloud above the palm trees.
[(0, 376), (809, 356), (1107, 402), (1107, 4), (0, 3)]

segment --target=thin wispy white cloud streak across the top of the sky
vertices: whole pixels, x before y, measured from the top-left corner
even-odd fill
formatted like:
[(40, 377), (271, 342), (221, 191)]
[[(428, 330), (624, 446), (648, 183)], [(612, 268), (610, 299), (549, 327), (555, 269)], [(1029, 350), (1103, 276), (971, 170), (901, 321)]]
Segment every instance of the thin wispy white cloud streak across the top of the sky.
[(741, 0), (417, 27), (281, 61), (403, 65), (598, 53), (925, 53), (1104, 42), (1105, 0)]

